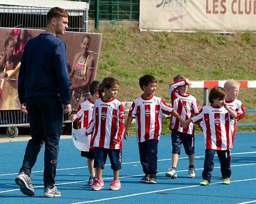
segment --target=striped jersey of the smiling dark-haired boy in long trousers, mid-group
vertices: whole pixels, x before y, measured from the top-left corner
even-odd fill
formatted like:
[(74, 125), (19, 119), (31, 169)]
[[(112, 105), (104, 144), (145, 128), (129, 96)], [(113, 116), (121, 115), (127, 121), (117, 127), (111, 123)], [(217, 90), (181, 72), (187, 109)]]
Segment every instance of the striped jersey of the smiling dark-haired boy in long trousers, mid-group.
[(161, 97), (151, 95), (144, 99), (143, 95), (135, 99), (129, 111), (129, 116), (136, 118), (137, 142), (150, 139), (159, 140), (162, 131), (163, 113), (171, 115), (173, 108)]

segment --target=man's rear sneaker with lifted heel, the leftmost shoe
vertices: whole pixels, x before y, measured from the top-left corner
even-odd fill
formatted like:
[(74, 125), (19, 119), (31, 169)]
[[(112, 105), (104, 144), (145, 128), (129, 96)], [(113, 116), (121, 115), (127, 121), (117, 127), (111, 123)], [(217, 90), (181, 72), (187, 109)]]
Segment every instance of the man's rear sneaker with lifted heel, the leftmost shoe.
[(29, 176), (26, 176), (23, 172), (20, 172), (15, 178), (15, 183), (20, 186), (20, 191), (25, 195), (35, 195), (34, 187), (32, 185)]

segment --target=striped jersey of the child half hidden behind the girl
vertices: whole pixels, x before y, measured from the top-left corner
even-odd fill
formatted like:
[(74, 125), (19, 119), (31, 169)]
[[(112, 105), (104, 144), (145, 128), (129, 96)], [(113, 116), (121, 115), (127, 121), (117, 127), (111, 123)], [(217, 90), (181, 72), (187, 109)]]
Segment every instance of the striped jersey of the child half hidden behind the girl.
[[(78, 122), (81, 120), (81, 128), (83, 127), (88, 128), (89, 123), (92, 120), (93, 107), (94, 107), (94, 103), (90, 99), (79, 104), (78, 109), (74, 114), (75, 115), (74, 122)], [(90, 138), (91, 136), (92, 134), (88, 135), (88, 137)], [(90, 145), (93, 146), (92, 140)]]

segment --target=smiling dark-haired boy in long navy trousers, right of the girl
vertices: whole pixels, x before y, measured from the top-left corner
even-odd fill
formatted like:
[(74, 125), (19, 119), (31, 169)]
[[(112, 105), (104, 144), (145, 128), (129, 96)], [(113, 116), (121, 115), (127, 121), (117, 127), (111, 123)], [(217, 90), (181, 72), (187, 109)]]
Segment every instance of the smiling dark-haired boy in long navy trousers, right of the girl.
[(177, 117), (181, 125), (185, 122), (163, 99), (154, 96), (156, 83), (156, 78), (151, 75), (144, 75), (140, 78), (139, 84), (143, 94), (132, 103), (124, 133), (126, 140), (132, 120), (136, 118), (140, 162), (145, 173), (141, 179), (143, 183), (156, 183), (157, 180), (157, 144), (162, 130), (163, 113)]

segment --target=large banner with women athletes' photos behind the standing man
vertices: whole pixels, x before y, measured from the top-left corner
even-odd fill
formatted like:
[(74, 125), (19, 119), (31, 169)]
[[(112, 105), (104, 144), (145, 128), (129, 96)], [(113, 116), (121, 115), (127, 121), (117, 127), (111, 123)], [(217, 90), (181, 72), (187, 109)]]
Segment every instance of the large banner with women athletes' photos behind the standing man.
[[(20, 109), (18, 75), (23, 48), (44, 30), (0, 28), (0, 110)], [(67, 45), (70, 99), (73, 110), (90, 97), (95, 79), (102, 34), (65, 32), (58, 35)]]

